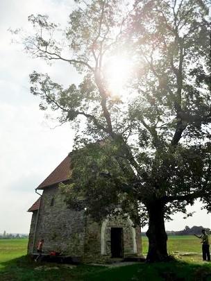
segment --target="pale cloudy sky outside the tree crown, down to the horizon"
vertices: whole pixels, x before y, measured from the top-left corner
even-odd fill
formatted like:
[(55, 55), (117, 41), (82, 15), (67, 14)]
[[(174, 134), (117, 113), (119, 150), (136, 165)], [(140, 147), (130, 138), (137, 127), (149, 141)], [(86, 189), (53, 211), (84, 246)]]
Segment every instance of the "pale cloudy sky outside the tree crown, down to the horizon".
[[(26, 212), (37, 200), (35, 188), (71, 151), (74, 131), (69, 124), (46, 118), (39, 109), (39, 99), (30, 93), (29, 74), (48, 73), (56, 82), (77, 83), (78, 75), (65, 62), (52, 66), (24, 53), (23, 46), (11, 44), (8, 28), (24, 27), (31, 31), (28, 15), (49, 15), (64, 26), (74, 7), (71, 0), (1, 0), (0, 1), (0, 233), (28, 233), (31, 213)], [(167, 230), (181, 230), (185, 225), (211, 228), (210, 215), (200, 203), (188, 219), (175, 214), (166, 223)], [(146, 230), (146, 228), (144, 228)]]

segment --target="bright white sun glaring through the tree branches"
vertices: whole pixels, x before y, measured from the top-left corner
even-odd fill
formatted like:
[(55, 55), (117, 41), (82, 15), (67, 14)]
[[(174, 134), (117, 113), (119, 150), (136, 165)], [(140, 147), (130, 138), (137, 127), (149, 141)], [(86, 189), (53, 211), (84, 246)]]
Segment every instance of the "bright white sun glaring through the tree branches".
[(103, 68), (105, 83), (110, 96), (124, 96), (125, 86), (131, 76), (131, 62), (122, 56), (113, 56)]

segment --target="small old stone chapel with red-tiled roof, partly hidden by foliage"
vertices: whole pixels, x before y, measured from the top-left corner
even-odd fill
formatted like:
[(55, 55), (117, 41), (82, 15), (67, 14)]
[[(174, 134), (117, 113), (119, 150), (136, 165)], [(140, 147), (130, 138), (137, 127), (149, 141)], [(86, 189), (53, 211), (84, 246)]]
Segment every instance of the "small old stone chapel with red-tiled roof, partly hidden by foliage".
[(99, 223), (85, 210), (65, 205), (58, 185), (69, 183), (70, 160), (68, 155), (35, 189), (40, 198), (28, 210), (32, 212), (28, 254), (36, 253), (38, 241), (44, 239), (43, 253), (54, 250), (81, 262), (142, 257), (140, 228), (134, 228), (129, 218), (109, 217)]

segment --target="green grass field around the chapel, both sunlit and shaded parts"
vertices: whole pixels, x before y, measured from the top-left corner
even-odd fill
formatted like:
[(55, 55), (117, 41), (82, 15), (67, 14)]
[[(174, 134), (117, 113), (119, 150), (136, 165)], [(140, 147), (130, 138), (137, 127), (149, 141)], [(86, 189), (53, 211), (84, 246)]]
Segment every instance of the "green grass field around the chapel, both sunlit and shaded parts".
[[(169, 253), (192, 252), (199, 253), (199, 255), (183, 257), (176, 254), (176, 260), (168, 263), (142, 263), (108, 268), (90, 265), (36, 264), (26, 256), (27, 239), (0, 240), (0, 280), (211, 281), (211, 264), (201, 261), (201, 245), (199, 242), (196, 237), (169, 237)], [(148, 246), (146, 237), (142, 237), (142, 244), (143, 252), (146, 254)]]

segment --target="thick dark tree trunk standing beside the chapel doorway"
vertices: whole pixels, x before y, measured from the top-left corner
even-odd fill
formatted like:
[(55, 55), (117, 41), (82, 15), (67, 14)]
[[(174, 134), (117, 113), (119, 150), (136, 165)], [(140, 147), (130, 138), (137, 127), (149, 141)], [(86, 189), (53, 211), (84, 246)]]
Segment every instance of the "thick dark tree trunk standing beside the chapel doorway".
[(153, 201), (147, 205), (149, 212), (149, 229), (146, 236), (149, 239), (149, 250), (146, 257), (147, 262), (166, 261), (167, 233), (164, 227), (164, 203)]

